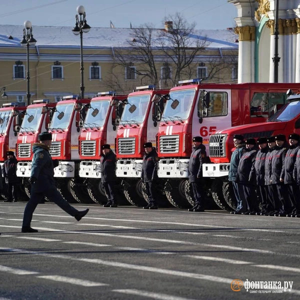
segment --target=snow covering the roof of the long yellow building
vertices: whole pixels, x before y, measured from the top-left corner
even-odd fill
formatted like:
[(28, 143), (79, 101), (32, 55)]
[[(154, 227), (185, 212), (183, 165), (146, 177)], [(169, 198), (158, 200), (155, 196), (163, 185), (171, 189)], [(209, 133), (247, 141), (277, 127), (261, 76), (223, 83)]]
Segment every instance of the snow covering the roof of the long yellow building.
[[(1, 25), (0, 46), (20, 46), (23, 37), (23, 26)], [(37, 40), (36, 45), (46, 47), (79, 47), (79, 36), (71, 31), (72, 27), (33, 26), (33, 37)], [(154, 29), (157, 33), (161, 29)], [(128, 47), (127, 41), (132, 40), (130, 28), (99, 28), (92, 27), (89, 32), (83, 33), (83, 47)], [(13, 39), (8, 38), (12, 36)], [(205, 38), (209, 48), (237, 48), (236, 35), (227, 29), (203, 29), (195, 30), (190, 35), (195, 40)]]

